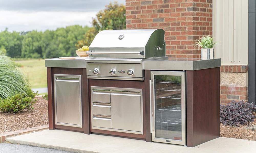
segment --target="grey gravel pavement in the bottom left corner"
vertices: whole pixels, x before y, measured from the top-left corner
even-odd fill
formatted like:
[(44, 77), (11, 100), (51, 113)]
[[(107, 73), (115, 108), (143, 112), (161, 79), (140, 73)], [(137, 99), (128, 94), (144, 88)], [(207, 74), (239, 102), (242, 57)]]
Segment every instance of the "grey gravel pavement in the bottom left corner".
[(72, 153), (72, 152), (42, 148), (42, 147), (34, 147), (34, 146), (28, 146), (28, 145), (0, 143), (0, 153)]

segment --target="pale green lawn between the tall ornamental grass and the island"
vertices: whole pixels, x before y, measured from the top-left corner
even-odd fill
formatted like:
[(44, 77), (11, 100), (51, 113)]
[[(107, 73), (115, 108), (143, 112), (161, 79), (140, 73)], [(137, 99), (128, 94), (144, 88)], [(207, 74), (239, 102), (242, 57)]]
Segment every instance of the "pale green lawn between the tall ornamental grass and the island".
[(31, 88), (47, 87), (46, 67), (44, 59), (28, 59), (15, 61), (20, 71), (28, 78)]

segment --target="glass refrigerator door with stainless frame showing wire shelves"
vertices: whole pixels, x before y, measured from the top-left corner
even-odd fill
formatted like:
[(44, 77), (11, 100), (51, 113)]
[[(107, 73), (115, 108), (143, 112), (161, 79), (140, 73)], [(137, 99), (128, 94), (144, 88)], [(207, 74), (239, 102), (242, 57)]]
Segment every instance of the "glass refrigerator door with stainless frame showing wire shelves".
[(151, 71), (152, 140), (186, 145), (185, 72)]

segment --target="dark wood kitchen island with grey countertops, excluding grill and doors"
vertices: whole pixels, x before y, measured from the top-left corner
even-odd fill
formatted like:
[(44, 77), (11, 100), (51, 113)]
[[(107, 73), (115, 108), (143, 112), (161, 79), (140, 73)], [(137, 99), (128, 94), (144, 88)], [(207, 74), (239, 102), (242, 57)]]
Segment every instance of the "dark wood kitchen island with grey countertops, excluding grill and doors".
[[(88, 59), (89, 60), (89, 59)], [(143, 68), (145, 73), (145, 80), (143, 81), (130, 81), (130, 80), (105, 80), (105, 79), (87, 79), (86, 76), (86, 60), (61, 60), (61, 59), (47, 59), (47, 79), (48, 79), (48, 104), (49, 104), (49, 129), (62, 129), (90, 133), (102, 133), (109, 135), (118, 135), (129, 138), (143, 139), (148, 142), (152, 141), (152, 118), (154, 109), (154, 95), (150, 90), (155, 90), (153, 87), (152, 72), (165, 72), (170, 73), (178, 72), (185, 75), (185, 127), (183, 130), (185, 135), (186, 145), (194, 147), (201, 143), (207, 142), (211, 139), (219, 137), (219, 66), (220, 59), (174, 59), (161, 61), (143, 61)], [(70, 125), (56, 124), (55, 116), (55, 93), (54, 93), (54, 74), (65, 75), (81, 75), (81, 116), (82, 127), (74, 127)], [(98, 82), (98, 83), (97, 83)], [(159, 82), (159, 81), (158, 81)], [(116, 86), (126, 85), (127, 88), (141, 88), (143, 91), (143, 134), (132, 134), (114, 131), (98, 131), (92, 129), (91, 125), (91, 101), (90, 101), (90, 86), (93, 83), (99, 86), (109, 86), (114, 84)], [(65, 88), (69, 89), (70, 86)], [(74, 91), (77, 93), (77, 91)], [(69, 96), (69, 95), (67, 95)], [(78, 95), (76, 95), (78, 96)], [(71, 101), (74, 102), (74, 101)], [(152, 108), (151, 108), (152, 107)], [(175, 111), (178, 112), (178, 111)], [(69, 113), (77, 113), (68, 111)], [(68, 115), (69, 116), (69, 115)], [(152, 116), (154, 117), (154, 115)], [(180, 124), (175, 124), (180, 125)], [(185, 130), (184, 130), (185, 128)]]

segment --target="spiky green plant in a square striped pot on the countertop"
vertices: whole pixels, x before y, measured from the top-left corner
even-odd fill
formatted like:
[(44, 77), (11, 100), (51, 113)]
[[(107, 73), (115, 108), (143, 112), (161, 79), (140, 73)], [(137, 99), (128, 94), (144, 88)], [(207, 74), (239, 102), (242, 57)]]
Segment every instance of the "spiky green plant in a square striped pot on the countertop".
[(201, 47), (201, 59), (213, 59), (214, 58), (214, 45), (216, 43), (213, 41), (211, 36), (202, 36), (197, 40), (195, 47)]

